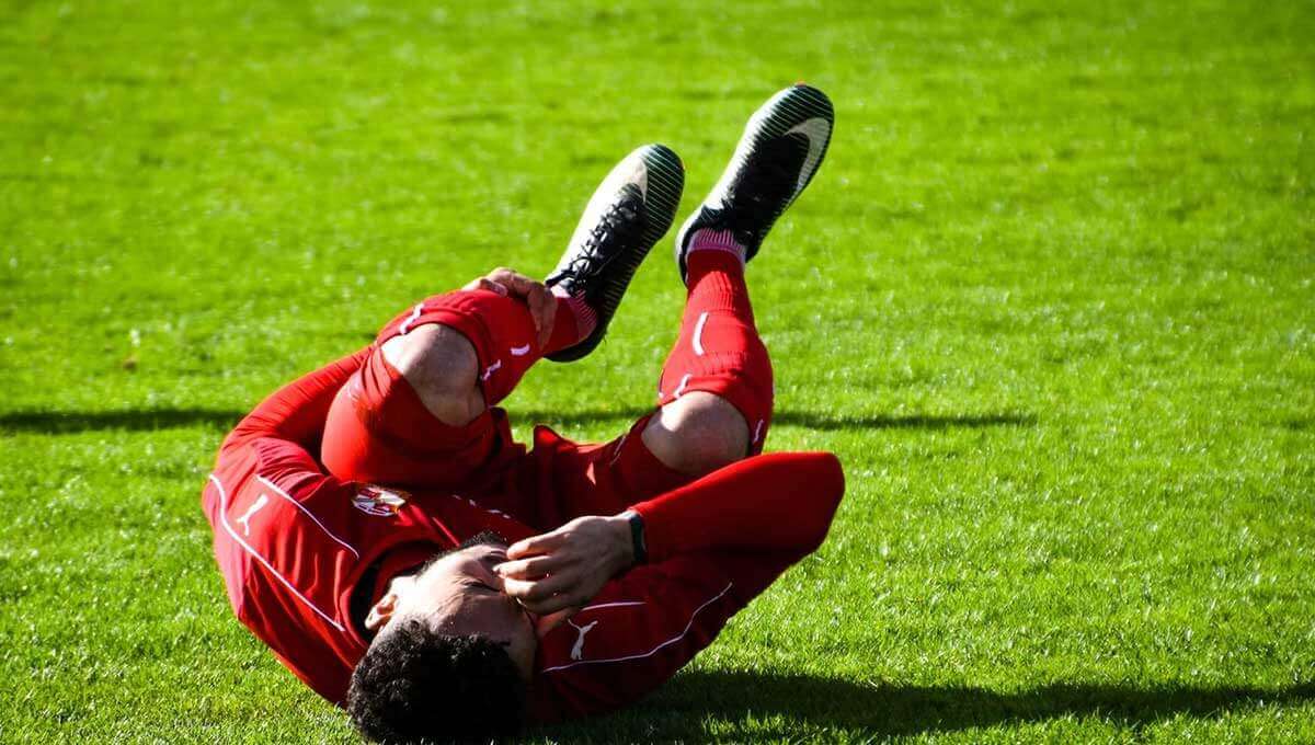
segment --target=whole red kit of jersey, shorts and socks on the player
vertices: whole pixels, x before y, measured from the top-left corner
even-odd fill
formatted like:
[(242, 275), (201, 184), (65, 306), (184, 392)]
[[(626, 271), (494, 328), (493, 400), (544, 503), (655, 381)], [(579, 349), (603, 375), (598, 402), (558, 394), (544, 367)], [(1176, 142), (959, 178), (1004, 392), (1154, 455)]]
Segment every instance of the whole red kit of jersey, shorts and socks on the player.
[[(751, 317), (738, 315), (715, 304), (686, 309), (661, 397), (725, 395), (756, 430), (757, 452), (771, 367)], [(354, 594), (373, 603), (393, 576), (479, 532), (515, 541), (579, 515), (634, 508), (644, 518), (648, 564), (540, 640), (530, 691), (540, 721), (610, 711), (654, 690), (826, 536), (844, 489), (828, 453), (755, 456), (690, 481), (643, 445), (647, 418), (596, 445), (539, 427), (527, 452), (500, 409), (466, 428), (427, 417), (379, 352), (418, 323), (454, 326), (476, 347), (493, 405), (550, 351), (534, 347), (526, 318), (494, 293), (430, 298), (370, 348), (276, 392), (225, 440), (201, 502), (229, 600), (330, 702), (343, 703), (368, 646)], [(706, 352), (719, 343), (729, 350)], [(356, 591), (363, 576), (373, 586)]]

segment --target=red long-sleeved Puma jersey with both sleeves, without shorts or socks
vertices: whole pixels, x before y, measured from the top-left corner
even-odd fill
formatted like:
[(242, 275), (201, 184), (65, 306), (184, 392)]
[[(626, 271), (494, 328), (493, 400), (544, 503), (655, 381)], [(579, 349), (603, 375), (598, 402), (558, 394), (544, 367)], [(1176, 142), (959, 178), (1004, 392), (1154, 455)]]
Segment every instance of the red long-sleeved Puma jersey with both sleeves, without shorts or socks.
[[(351, 606), (367, 569), (379, 565), (366, 590), (373, 603), (393, 576), (463, 539), (492, 530), (515, 541), (544, 528), (454, 494), (326, 474), (310, 453), (363, 356), (285, 386), (245, 418), (201, 498), (234, 614), (337, 704), (368, 646)], [(826, 453), (761, 456), (714, 477), (634, 506), (646, 519), (651, 564), (610, 581), (539, 640), (534, 719), (610, 711), (671, 678), (821, 543), (843, 489)]]

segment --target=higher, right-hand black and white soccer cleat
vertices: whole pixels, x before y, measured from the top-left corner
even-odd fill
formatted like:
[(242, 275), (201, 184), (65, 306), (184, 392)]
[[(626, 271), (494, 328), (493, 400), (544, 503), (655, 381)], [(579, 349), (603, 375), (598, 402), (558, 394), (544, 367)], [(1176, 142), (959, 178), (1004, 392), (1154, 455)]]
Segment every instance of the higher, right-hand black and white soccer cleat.
[(700, 230), (730, 230), (746, 259), (757, 254), (776, 218), (822, 166), (834, 125), (831, 100), (802, 83), (753, 112), (721, 180), (676, 235), (682, 281), (689, 240)]

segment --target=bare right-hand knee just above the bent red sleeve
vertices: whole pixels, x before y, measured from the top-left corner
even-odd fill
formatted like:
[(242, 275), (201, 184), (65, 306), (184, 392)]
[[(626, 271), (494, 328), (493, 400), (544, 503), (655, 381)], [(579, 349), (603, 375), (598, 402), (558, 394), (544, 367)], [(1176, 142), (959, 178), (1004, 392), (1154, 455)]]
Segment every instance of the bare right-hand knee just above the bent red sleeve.
[(673, 470), (701, 476), (748, 455), (748, 424), (719, 395), (693, 392), (663, 406), (644, 427), (644, 445)]

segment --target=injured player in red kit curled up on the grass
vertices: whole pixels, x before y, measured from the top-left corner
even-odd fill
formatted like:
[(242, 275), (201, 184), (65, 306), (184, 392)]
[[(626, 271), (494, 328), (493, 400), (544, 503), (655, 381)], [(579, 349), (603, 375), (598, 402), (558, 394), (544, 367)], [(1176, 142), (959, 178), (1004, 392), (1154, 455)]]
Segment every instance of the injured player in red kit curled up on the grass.
[(822, 543), (844, 489), (828, 453), (759, 455), (772, 368), (744, 284), (831, 122), (805, 85), (750, 121), (676, 240), (659, 407), (610, 443), (538, 427), (527, 452), (492, 406), (602, 339), (680, 202), (661, 146), (613, 169), (546, 285), (498, 269), (427, 298), (260, 403), (203, 495), (238, 618), (381, 740), (513, 732), (671, 678)]

